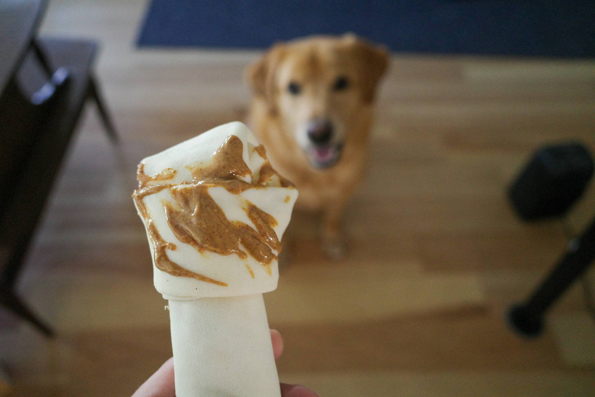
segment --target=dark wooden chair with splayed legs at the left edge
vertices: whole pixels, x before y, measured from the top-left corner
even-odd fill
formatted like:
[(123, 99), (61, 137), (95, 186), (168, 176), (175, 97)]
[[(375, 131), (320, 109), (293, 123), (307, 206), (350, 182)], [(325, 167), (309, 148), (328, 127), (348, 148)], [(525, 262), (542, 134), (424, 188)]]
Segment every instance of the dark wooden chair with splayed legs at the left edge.
[(0, 304), (48, 336), (15, 285), (87, 99), (118, 141), (93, 75), (97, 49), (90, 40), (32, 36), (0, 95)]

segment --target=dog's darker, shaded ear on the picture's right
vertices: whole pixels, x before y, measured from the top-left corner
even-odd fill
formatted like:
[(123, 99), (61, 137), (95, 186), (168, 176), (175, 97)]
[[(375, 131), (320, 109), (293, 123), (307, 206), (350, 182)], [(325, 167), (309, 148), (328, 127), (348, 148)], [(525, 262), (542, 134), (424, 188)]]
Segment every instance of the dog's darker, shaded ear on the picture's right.
[(376, 87), (389, 66), (389, 52), (383, 46), (372, 45), (355, 35), (347, 34), (343, 39), (353, 49), (360, 74), (362, 101), (374, 101)]

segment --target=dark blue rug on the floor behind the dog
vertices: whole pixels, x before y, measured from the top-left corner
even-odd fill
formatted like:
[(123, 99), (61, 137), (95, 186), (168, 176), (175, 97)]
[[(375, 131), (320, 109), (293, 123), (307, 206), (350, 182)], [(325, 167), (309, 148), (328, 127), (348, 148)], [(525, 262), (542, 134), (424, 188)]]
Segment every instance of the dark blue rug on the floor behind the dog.
[(152, 0), (137, 44), (267, 48), (345, 32), (395, 52), (595, 57), (595, 2)]

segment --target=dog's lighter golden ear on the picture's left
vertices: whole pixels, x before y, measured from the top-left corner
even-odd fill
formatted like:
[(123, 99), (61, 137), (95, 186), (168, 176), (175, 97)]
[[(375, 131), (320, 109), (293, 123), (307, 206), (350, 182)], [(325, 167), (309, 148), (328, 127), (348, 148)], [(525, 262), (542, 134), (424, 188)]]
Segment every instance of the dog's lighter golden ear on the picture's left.
[(252, 93), (264, 99), (271, 113), (276, 112), (275, 95), (277, 87), (275, 86), (275, 76), (277, 75), (277, 65), (280, 63), (285, 46), (277, 44), (267, 51), (262, 58), (248, 67), (246, 71), (246, 80), (252, 88)]

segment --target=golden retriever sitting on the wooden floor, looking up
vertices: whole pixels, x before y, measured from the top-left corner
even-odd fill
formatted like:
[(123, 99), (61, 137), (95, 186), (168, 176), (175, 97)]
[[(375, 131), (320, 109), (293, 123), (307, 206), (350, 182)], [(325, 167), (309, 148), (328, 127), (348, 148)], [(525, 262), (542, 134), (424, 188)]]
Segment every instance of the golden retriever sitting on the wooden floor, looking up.
[(271, 165), (295, 183), (297, 208), (322, 212), (321, 246), (345, 255), (341, 221), (364, 176), (374, 94), (389, 62), (353, 35), (280, 43), (248, 69), (248, 123)]

